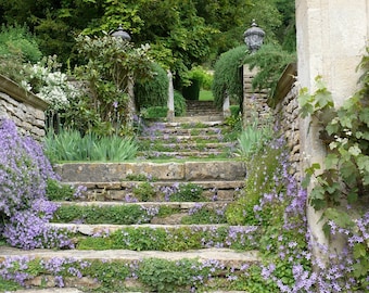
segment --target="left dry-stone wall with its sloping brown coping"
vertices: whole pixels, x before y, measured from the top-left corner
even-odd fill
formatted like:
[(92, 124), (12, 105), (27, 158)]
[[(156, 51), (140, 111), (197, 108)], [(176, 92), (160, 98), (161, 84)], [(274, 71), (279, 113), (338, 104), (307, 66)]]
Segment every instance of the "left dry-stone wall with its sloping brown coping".
[(12, 119), (22, 133), (36, 140), (44, 136), (47, 107), (47, 102), (0, 75), (0, 117)]

